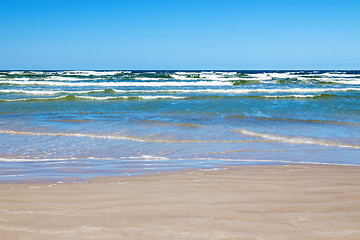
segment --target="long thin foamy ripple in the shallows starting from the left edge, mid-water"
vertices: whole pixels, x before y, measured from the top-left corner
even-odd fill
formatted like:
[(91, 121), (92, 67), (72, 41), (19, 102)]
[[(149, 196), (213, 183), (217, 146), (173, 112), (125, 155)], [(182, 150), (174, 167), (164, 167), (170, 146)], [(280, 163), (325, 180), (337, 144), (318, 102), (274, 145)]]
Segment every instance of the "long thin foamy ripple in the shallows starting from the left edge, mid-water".
[(0, 134), (10, 135), (29, 135), (29, 136), (56, 136), (56, 137), (87, 137), (98, 139), (115, 139), (115, 140), (128, 140), (135, 142), (157, 142), (157, 143), (257, 143), (257, 142), (275, 142), (274, 140), (167, 140), (167, 139), (149, 139), (139, 138), (132, 136), (121, 135), (97, 135), (89, 133), (55, 133), (55, 132), (24, 132), (24, 131), (11, 131), (1, 130)]

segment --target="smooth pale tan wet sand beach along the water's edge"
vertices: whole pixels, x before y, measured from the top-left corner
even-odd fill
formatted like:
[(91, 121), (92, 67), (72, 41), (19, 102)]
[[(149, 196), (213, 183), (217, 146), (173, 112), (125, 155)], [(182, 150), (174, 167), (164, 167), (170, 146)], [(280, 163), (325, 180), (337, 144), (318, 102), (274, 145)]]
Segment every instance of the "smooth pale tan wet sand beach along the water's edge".
[(360, 168), (242, 166), (0, 185), (1, 239), (360, 239)]

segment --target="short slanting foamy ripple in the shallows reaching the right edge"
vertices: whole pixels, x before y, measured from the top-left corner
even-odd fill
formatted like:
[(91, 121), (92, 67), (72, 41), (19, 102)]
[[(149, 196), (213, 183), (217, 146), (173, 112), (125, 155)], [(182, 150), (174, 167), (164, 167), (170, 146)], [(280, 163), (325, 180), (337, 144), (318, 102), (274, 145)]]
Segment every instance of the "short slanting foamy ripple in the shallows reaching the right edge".
[(283, 136), (279, 134), (270, 134), (270, 133), (261, 133), (254, 132), (245, 129), (235, 130), (236, 132), (240, 132), (243, 135), (251, 136), (251, 137), (259, 137), (266, 140), (272, 140), (276, 142), (284, 142), (284, 143), (292, 143), (292, 144), (315, 144), (327, 147), (341, 147), (341, 148), (353, 148), (360, 149), (360, 145), (355, 144), (346, 144), (346, 143), (337, 143), (331, 142), (323, 139), (316, 139), (310, 137), (293, 137), (293, 136)]

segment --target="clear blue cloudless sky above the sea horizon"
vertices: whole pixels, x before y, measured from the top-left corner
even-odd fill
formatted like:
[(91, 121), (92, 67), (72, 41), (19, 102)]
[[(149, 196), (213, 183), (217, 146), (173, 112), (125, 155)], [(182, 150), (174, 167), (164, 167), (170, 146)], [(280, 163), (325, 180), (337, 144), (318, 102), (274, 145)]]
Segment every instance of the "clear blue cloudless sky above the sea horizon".
[(0, 0), (0, 69), (359, 70), (359, 12), (359, 0)]

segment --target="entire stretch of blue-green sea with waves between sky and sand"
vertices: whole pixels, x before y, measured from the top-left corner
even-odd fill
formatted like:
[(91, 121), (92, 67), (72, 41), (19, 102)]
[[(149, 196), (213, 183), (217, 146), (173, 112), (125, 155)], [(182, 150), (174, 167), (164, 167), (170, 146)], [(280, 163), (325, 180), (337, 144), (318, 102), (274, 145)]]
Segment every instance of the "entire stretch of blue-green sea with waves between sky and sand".
[(2, 181), (360, 163), (360, 71), (3, 71)]

